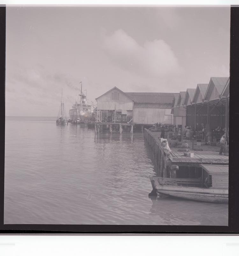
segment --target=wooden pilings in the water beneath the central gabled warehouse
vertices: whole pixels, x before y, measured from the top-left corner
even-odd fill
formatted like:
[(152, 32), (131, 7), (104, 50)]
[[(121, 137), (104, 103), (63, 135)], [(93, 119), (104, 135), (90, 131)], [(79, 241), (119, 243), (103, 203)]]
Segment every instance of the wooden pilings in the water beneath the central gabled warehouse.
[[(120, 134), (122, 134), (123, 130), (128, 130), (127, 128), (130, 128), (130, 132), (133, 133), (133, 127), (134, 124), (132, 123), (120, 123), (120, 122), (95, 122), (95, 134), (100, 134), (104, 130), (109, 130), (109, 133), (112, 133), (113, 131), (117, 131)], [(115, 130), (113, 130), (115, 128)]]

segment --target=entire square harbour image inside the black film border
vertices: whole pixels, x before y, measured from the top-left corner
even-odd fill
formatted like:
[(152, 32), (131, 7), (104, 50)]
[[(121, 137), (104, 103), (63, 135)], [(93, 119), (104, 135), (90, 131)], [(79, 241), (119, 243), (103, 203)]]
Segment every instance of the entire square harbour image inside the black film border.
[(229, 51), (229, 6), (7, 6), (4, 224), (228, 226)]

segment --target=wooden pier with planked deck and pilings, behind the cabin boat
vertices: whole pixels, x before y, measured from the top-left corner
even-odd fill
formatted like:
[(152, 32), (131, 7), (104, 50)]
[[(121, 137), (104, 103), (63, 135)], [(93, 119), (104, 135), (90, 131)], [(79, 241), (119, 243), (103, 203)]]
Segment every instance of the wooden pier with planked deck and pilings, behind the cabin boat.
[[(144, 129), (144, 141), (153, 155), (157, 175), (159, 177), (176, 177), (178, 167), (200, 167), (200, 164), (228, 165), (228, 156), (219, 155), (219, 148), (212, 146), (201, 146), (203, 151), (192, 150), (192, 142), (187, 141), (189, 150), (194, 157), (184, 156), (183, 151), (178, 148), (170, 148), (170, 151), (163, 147), (160, 141), (160, 132), (150, 132)], [(168, 139), (167, 139), (168, 140)]]

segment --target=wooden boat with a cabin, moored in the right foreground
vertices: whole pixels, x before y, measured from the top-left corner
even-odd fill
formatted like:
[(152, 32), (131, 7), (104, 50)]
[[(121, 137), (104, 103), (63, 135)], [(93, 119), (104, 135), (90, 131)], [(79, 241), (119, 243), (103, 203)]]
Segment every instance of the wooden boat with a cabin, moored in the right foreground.
[(228, 204), (228, 165), (200, 164), (199, 178), (150, 176), (149, 196), (167, 195), (194, 201)]

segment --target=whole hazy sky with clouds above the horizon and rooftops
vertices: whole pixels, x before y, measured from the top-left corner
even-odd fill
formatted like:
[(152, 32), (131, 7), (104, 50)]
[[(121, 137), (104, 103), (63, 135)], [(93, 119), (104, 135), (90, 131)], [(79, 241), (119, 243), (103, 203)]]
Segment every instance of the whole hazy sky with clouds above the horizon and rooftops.
[(229, 6), (7, 6), (6, 115), (57, 116), (62, 89), (68, 115), (81, 81), (88, 104), (186, 91), (229, 76), (229, 50)]

